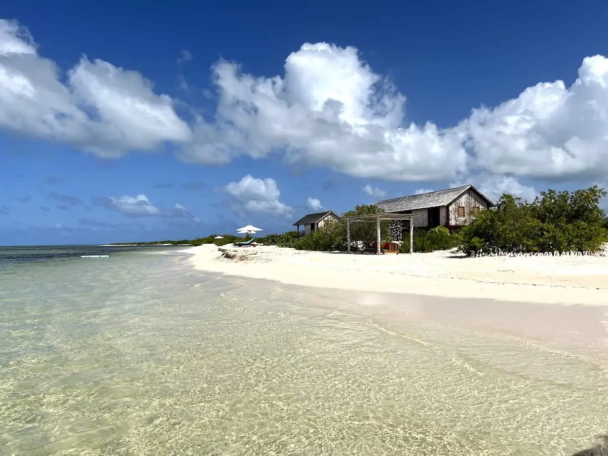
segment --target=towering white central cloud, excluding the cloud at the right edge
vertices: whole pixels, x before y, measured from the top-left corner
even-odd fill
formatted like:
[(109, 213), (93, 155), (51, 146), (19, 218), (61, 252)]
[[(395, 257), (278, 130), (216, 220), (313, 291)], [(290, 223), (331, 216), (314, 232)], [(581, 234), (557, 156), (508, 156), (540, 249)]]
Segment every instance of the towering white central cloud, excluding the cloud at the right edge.
[[(463, 134), (432, 123), (401, 126), (405, 97), (371, 71), (354, 47), (303, 44), (288, 56), (283, 77), (239, 70), (226, 61), (213, 67), (217, 123), (204, 127), (213, 130), (204, 147), (218, 148), (226, 159), (239, 150), (263, 157), (284, 148), (292, 162), (398, 181), (466, 169)], [(209, 151), (187, 155), (203, 163), (213, 157)]]

